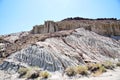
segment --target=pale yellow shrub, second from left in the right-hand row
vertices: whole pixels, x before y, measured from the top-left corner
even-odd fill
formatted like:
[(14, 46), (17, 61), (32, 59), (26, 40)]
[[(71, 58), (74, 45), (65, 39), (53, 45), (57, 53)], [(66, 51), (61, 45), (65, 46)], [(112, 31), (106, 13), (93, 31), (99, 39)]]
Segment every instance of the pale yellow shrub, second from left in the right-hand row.
[(81, 75), (88, 75), (88, 68), (87, 66), (76, 66), (75, 67), (75, 72), (77, 74), (81, 74)]

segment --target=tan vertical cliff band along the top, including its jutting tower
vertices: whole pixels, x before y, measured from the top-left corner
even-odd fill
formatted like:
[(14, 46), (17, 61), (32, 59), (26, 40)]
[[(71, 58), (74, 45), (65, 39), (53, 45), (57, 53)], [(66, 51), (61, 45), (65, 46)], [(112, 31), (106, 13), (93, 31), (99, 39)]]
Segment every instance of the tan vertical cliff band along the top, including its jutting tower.
[(69, 20), (60, 22), (46, 21), (42, 26), (35, 26), (31, 33), (52, 33), (80, 27), (94, 31), (101, 35), (120, 35), (120, 21), (118, 20)]

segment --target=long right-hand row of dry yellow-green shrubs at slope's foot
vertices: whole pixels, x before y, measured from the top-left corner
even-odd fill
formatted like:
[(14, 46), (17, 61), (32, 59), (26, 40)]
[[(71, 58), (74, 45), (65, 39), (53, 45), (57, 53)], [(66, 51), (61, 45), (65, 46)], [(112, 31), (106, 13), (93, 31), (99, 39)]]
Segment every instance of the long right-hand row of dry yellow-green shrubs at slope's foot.
[(85, 66), (75, 66), (75, 67), (68, 67), (66, 68), (66, 75), (68, 76), (75, 76), (76, 74), (87, 76), (99, 76), (102, 73), (106, 72), (107, 69), (113, 70), (115, 67), (120, 67), (120, 63), (112, 63), (110, 61), (106, 61), (103, 63), (89, 63)]

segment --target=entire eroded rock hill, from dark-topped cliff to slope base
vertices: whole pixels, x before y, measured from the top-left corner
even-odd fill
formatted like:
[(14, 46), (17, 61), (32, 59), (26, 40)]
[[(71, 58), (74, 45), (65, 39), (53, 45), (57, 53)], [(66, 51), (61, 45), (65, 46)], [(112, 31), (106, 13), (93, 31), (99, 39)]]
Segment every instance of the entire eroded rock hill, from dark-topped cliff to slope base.
[(38, 66), (63, 71), (87, 62), (118, 61), (119, 36), (120, 21), (112, 18), (46, 21), (30, 33), (0, 36), (0, 69), (16, 72), (21, 66)]

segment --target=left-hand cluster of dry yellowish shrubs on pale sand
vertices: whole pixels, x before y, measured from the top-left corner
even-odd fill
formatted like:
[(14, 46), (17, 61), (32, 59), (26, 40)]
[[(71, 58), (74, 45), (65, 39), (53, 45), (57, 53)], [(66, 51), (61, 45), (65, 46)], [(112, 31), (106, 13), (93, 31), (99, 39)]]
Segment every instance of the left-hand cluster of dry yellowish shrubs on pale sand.
[(38, 67), (24, 68), (18, 70), (20, 78), (34, 79), (34, 78), (48, 78), (50, 74), (47, 71), (41, 71)]

